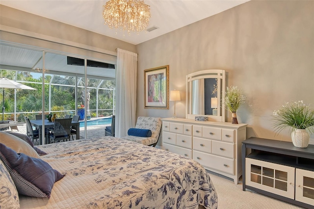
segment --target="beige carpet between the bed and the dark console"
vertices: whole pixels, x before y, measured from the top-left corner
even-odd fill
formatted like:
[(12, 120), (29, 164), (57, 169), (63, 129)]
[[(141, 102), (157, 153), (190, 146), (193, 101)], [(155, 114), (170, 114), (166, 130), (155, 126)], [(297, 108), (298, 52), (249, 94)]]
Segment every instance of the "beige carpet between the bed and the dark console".
[(235, 184), (233, 179), (208, 172), (218, 194), (218, 209), (303, 209), (248, 189), (243, 191), (242, 182)]

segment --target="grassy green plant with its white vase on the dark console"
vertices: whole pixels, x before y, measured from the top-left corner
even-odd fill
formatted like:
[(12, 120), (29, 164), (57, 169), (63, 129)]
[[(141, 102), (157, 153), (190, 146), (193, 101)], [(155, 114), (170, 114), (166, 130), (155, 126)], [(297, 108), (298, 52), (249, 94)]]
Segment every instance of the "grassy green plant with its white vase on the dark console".
[(274, 128), (277, 134), (288, 128), (294, 146), (306, 148), (309, 145), (310, 135), (314, 133), (313, 104), (304, 104), (303, 101), (286, 103), (273, 112)]

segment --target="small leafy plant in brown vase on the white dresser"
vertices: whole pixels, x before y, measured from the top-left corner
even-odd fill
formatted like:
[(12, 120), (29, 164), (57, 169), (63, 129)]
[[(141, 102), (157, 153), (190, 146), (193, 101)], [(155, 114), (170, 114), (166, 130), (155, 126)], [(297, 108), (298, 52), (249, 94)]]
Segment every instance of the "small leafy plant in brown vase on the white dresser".
[(225, 92), (225, 107), (232, 112), (232, 123), (238, 124), (236, 111), (245, 102), (245, 97), (237, 86), (227, 87)]

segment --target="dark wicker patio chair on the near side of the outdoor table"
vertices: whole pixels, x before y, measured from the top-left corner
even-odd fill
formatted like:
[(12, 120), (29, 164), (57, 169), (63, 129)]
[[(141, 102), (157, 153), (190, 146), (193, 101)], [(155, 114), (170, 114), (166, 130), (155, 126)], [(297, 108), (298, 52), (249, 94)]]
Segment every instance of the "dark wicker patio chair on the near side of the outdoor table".
[(47, 141), (53, 142), (70, 140), (72, 118), (54, 119), (53, 129), (47, 129)]

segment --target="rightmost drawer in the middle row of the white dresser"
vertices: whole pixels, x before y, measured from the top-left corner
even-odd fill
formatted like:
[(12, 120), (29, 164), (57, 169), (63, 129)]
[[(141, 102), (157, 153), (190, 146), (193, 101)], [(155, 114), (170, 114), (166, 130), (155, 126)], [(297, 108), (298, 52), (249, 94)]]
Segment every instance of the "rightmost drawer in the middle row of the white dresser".
[(235, 158), (235, 144), (212, 140), (211, 153), (219, 156)]

